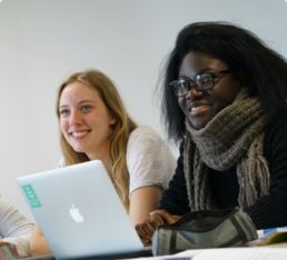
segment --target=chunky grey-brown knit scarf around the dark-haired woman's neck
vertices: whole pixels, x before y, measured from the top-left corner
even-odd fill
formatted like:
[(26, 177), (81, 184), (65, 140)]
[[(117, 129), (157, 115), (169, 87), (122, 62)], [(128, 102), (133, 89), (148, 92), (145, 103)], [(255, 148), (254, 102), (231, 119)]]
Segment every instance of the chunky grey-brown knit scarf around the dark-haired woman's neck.
[(241, 207), (268, 193), (270, 178), (263, 143), (265, 126), (259, 100), (248, 97), (245, 89), (205, 128), (196, 130), (186, 122), (184, 171), (191, 211), (216, 208), (208, 168), (225, 171), (236, 167)]

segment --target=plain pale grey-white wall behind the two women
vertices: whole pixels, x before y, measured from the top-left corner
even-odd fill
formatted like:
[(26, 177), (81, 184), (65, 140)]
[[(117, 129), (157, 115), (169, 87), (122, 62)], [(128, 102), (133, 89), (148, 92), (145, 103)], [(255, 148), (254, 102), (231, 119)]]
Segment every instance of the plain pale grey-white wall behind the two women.
[(55, 99), (73, 71), (106, 72), (131, 116), (161, 131), (160, 68), (178, 31), (199, 20), (241, 24), (287, 57), (285, 0), (2, 0), (0, 193), (31, 218), (16, 178), (57, 164)]

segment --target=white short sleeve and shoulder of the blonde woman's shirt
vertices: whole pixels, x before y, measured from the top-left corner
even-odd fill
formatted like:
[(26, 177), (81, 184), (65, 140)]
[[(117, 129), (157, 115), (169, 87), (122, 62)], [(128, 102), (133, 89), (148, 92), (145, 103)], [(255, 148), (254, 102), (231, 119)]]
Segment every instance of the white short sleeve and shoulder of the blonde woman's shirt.
[(168, 144), (150, 127), (136, 128), (127, 147), (129, 193), (140, 187), (158, 186), (168, 188), (176, 169), (176, 160)]

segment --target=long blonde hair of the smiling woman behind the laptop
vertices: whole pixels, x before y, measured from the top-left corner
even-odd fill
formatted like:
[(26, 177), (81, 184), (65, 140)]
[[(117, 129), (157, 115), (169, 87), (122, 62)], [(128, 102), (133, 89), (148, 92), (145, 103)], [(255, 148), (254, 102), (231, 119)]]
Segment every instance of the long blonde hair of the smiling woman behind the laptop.
[[(129, 134), (137, 127), (133, 120), (128, 116), (123, 102), (117, 91), (113, 82), (98, 70), (80, 71), (71, 74), (62, 82), (57, 98), (57, 116), (60, 120), (59, 101), (63, 89), (72, 82), (81, 82), (98, 91), (100, 98), (107, 106), (116, 123), (111, 126), (110, 148), (108, 172), (113, 186), (128, 211), (129, 209), (129, 173), (126, 162), (127, 142)], [(81, 152), (77, 152), (67, 142), (60, 131), (60, 146), (62, 156), (67, 166), (89, 161), (89, 158)]]

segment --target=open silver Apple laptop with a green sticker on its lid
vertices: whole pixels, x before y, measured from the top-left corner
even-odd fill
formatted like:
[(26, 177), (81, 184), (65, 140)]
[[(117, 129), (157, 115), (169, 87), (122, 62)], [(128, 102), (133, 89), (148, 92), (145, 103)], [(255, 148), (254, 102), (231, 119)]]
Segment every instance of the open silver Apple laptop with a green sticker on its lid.
[(57, 259), (142, 251), (101, 161), (28, 174), (17, 182)]

